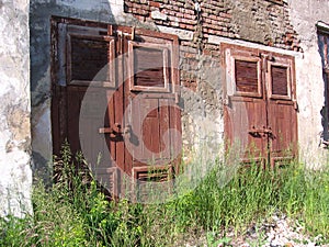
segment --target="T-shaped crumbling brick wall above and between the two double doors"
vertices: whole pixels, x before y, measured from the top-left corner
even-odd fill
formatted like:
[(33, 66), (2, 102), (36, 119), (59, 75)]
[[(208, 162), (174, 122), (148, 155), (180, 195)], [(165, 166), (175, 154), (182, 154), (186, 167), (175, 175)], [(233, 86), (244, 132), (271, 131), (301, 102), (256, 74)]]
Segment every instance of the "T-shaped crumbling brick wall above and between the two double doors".
[[(195, 146), (209, 125), (215, 128), (211, 144), (218, 143), (224, 135), (220, 46), (209, 37), (300, 49), (286, 0), (203, 0), (196, 9), (192, 0), (124, 0), (124, 11), (139, 22), (156, 24), (161, 32), (170, 31), (180, 37), (181, 85), (197, 96), (182, 96), (185, 147)], [(194, 125), (189, 120), (191, 112), (202, 116), (198, 122), (194, 117)], [(205, 122), (211, 124), (202, 128)], [(217, 148), (214, 147), (215, 153)]]

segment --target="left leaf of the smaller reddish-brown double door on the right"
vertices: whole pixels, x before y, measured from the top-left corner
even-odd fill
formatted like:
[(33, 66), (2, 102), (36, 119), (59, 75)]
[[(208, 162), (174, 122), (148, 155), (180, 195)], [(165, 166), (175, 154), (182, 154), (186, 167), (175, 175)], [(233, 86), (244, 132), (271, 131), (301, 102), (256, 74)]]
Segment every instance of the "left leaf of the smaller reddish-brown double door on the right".
[[(239, 148), (243, 164), (264, 164), (268, 135), (261, 58), (257, 49), (225, 47), (226, 138)], [(232, 143), (234, 142), (234, 143)]]

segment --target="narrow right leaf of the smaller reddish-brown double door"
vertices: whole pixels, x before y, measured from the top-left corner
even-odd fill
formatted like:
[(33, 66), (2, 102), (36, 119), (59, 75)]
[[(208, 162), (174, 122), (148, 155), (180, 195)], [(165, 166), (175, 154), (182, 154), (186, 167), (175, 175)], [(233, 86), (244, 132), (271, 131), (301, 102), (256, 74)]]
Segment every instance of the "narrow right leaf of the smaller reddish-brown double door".
[(297, 155), (297, 104), (294, 60), (271, 55), (266, 68), (271, 165), (284, 165)]

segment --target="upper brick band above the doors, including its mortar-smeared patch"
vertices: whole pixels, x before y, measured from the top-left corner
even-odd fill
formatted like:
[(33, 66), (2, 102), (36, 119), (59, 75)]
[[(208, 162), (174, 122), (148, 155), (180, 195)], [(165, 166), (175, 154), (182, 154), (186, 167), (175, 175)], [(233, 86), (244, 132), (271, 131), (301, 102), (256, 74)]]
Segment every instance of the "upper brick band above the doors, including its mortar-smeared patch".
[(141, 22), (194, 32), (203, 47), (208, 35), (241, 38), (285, 49), (298, 50), (297, 34), (283, 0), (207, 0), (195, 11), (193, 1), (125, 0), (125, 12)]

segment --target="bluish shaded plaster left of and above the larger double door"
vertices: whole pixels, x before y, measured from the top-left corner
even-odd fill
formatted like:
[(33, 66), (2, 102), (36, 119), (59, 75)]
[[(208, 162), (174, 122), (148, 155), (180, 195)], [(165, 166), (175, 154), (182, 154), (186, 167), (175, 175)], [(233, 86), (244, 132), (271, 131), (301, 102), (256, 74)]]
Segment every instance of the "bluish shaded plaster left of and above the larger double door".
[(106, 0), (31, 0), (30, 59), (32, 154), (34, 173), (45, 178), (52, 160), (50, 16), (69, 16), (115, 24)]

